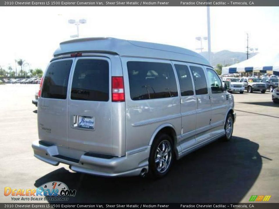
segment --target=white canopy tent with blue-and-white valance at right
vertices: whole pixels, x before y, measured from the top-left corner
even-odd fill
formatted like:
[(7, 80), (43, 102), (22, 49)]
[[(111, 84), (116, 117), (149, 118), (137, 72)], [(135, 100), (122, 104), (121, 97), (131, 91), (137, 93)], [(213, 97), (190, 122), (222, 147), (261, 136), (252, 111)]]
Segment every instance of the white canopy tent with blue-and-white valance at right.
[(253, 71), (279, 75), (279, 53), (260, 53), (243, 62), (222, 67), (222, 75)]

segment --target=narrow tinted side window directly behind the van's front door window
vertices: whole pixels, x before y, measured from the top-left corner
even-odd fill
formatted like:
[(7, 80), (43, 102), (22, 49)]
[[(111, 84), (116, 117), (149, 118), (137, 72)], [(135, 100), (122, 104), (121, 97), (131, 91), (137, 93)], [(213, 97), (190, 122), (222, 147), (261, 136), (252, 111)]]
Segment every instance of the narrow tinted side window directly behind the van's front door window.
[(207, 94), (208, 88), (203, 69), (197, 66), (190, 66), (190, 69), (194, 79), (196, 95)]

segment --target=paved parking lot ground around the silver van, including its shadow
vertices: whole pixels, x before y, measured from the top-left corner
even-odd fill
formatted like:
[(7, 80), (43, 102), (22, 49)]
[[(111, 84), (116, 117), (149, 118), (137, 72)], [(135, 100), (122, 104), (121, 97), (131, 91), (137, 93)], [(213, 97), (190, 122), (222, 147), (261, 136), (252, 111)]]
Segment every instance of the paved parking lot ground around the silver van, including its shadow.
[[(271, 93), (234, 93), (237, 120), (230, 142), (220, 140), (174, 163), (160, 180), (103, 178), (55, 167), (33, 156), (38, 84), (0, 85), (0, 185), (33, 189), (62, 181), (76, 196), (70, 202), (248, 202), (271, 195), (279, 202), (279, 105)], [(12, 202), (0, 195), (1, 202)], [(28, 202), (28, 201), (27, 201)], [(29, 201), (30, 202), (30, 201)]]

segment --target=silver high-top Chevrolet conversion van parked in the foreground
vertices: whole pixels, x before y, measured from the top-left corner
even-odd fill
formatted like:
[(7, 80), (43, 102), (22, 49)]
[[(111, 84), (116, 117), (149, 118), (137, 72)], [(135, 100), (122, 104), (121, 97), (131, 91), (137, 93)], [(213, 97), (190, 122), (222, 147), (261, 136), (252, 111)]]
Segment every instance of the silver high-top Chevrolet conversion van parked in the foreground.
[(233, 96), (201, 55), (114, 38), (62, 42), (38, 93), (34, 156), (99, 176), (160, 178), (232, 137)]

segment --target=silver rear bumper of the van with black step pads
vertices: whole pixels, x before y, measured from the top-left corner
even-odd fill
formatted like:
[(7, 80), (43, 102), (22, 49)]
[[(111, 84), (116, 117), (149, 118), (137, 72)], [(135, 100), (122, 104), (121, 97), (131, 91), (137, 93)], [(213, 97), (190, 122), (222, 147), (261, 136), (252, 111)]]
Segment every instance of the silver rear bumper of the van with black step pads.
[[(123, 157), (96, 157), (67, 147), (32, 143), (34, 156), (51, 165), (64, 163), (76, 172), (93, 174), (97, 176), (138, 176), (148, 172), (148, 158), (150, 146), (132, 150)], [(98, 155), (97, 155), (98, 156)]]

